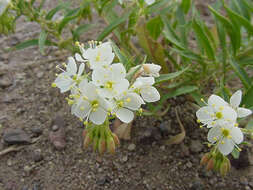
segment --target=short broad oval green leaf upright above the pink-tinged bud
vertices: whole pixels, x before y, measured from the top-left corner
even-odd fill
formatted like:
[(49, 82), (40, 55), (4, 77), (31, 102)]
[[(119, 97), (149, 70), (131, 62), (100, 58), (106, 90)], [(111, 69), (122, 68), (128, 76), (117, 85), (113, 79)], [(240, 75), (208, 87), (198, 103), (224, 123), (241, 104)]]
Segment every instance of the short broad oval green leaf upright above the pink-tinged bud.
[(163, 22), (161, 20), (161, 17), (155, 17), (150, 19), (147, 24), (146, 24), (147, 30), (150, 34), (150, 36), (154, 39), (157, 40), (157, 38), (160, 36), (162, 30), (163, 30)]

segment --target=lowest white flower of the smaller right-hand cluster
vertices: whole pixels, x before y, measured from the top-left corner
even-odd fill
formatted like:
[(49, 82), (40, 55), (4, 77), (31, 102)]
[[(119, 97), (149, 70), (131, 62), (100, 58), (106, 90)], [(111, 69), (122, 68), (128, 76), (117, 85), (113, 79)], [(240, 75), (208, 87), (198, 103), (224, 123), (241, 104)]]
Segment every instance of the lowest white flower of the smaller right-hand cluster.
[(235, 146), (238, 148), (237, 144), (243, 141), (241, 129), (234, 125), (213, 127), (208, 132), (208, 141), (212, 144), (216, 143), (219, 151), (225, 156), (231, 153)]

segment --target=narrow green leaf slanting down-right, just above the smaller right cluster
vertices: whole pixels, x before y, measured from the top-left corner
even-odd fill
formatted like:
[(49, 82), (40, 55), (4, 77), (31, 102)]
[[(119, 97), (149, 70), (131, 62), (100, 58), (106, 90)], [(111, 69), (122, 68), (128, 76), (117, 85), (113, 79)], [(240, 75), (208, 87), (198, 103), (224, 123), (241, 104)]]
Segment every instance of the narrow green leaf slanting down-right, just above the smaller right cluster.
[(235, 71), (236, 75), (242, 81), (244, 87), (246, 89), (249, 89), (251, 86), (251, 80), (248, 74), (245, 72), (245, 70), (242, 67), (240, 67), (235, 60), (231, 60), (229, 63), (232, 66), (233, 70)]

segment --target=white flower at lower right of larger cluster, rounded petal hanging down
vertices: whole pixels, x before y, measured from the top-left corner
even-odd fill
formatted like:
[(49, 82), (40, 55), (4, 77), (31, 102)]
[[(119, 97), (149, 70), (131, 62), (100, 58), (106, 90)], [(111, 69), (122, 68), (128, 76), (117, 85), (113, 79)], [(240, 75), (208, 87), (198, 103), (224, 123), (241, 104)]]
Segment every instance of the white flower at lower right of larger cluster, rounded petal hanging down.
[(125, 92), (120, 96), (115, 97), (115, 101), (112, 104), (112, 113), (122, 122), (130, 123), (134, 118), (133, 111), (138, 110), (142, 104), (145, 104), (145, 102), (138, 94)]

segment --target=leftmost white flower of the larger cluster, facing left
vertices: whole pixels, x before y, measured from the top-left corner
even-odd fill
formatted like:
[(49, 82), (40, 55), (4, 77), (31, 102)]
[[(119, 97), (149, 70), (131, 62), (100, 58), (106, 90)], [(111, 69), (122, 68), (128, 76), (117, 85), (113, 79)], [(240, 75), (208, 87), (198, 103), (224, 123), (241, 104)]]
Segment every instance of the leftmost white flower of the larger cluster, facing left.
[(85, 65), (82, 63), (77, 73), (76, 62), (73, 57), (69, 57), (68, 64), (66, 65), (66, 71), (61, 69), (63, 72), (58, 75), (53, 84), (60, 88), (61, 93), (69, 91), (80, 82), (84, 67)]

